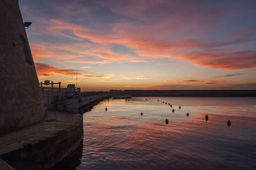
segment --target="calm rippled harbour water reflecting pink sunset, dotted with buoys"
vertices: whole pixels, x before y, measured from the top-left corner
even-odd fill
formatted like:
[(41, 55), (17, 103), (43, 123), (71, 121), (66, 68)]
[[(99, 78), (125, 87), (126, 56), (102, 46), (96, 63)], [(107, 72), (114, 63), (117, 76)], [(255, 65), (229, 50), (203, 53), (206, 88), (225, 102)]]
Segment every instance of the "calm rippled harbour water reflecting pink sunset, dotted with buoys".
[(83, 118), (77, 169), (256, 169), (256, 97), (110, 99)]

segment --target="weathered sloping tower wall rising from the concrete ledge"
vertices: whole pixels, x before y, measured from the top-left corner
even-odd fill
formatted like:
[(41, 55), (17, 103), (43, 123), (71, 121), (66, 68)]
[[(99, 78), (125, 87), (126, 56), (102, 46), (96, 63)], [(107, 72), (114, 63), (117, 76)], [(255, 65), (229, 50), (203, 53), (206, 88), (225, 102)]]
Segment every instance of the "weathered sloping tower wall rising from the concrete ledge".
[(0, 133), (44, 119), (44, 101), (18, 0), (0, 1)]

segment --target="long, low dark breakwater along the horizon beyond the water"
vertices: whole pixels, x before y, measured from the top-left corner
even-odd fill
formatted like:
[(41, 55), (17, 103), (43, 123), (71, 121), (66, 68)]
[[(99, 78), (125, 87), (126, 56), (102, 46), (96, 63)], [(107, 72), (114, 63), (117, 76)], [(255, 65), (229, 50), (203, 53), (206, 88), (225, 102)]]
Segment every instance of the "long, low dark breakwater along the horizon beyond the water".
[(110, 90), (109, 93), (132, 97), (256, 97), (256, 90)]

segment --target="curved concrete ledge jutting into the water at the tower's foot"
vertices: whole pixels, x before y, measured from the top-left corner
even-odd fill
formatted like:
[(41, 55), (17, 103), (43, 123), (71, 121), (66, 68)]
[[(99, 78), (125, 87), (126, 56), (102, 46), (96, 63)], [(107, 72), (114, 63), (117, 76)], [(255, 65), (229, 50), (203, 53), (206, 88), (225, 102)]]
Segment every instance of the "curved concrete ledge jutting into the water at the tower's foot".
[(0, 136), (0, 158), (15, 169), (48, 169), (83, 140), (83, 117), (47, 111), (44, 122)]

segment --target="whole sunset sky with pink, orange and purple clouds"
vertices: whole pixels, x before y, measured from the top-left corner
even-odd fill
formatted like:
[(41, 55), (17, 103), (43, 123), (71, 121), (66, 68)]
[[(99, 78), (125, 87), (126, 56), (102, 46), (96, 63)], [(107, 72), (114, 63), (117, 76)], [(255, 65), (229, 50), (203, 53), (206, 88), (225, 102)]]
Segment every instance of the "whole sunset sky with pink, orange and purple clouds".
[(19, 0), (39, 81), (256, 89), (256, 1)]

